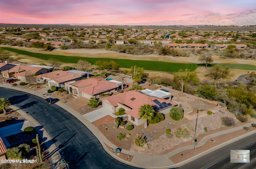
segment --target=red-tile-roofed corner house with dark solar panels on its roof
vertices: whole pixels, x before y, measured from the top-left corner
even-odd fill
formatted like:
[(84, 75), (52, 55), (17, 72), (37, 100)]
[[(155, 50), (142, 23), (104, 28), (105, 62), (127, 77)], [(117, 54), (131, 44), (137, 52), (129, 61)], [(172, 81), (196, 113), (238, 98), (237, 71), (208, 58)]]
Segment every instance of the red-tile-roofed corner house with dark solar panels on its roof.
[(137, 126), (144, 124), (144, 120), (140, 118), (139, 109), (145, 104), (152, 105), (157, 113), (160, 112), (164, 114), (169, 113), (171, 107), (177, 105), (170, 101), (170, 99), (146, 95), (136, 90), (104, 97), (102, 99), (102, 106), (110, 110), (111, 113), (116, 113), (120, 108), (125, 109), (125, 113), (128, 114), (128, 121)]

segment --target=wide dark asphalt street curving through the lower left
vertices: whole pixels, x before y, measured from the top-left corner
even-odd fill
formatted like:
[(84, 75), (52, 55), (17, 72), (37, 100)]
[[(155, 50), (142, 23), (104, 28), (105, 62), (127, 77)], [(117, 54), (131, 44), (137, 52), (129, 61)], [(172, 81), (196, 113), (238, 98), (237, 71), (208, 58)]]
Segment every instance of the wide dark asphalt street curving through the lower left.
[[(58, 147), (55, 151), (71, 169), (135, 169), (121, 163), (104, 151), (100, 141), (76, 117), (56, 104), (49, 105), (41, 97), (0, 87), (0, 98), (9, 98), (44, 126)], [(50, 152), (50, 155), (53, 152)]]

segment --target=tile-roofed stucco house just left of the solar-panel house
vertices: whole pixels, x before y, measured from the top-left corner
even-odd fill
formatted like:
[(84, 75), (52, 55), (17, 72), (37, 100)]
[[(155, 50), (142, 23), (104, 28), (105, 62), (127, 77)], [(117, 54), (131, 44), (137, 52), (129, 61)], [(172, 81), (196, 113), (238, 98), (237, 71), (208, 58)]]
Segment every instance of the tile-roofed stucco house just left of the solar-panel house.
[(65, 83), (65, 89), (74, 97), (100, 98), (100, 94), (115, 93), (118, 85), (103, 78), (89, 78)]

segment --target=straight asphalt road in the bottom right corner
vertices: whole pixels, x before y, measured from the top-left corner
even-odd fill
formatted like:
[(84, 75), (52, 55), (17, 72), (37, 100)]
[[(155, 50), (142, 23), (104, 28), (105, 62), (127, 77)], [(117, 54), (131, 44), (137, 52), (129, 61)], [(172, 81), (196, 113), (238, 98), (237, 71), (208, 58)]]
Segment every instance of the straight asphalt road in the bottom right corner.
[[(254, 169), (256, 168), (256, 134), (212, 151), (179, 169)], [(246, 147), (250, 145), (249, 147)], [(246, 148), (245, 148), (246, 147)], [(230, 150), (250, 149), (250, 163), (230, 163)]]

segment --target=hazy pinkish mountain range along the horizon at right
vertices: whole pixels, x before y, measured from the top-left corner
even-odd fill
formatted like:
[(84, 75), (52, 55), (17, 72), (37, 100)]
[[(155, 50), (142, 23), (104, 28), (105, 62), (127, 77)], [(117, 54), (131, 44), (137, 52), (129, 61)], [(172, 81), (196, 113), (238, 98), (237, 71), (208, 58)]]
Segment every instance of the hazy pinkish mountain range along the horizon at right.
[(168, 26), (168, 25), (221, 25), (221, 26), (228, 26), (228, 25), (235, 25), (235, 26), (242, 26), (242, 25), (256, 25), (256, 9), (245, 10), (238, 14), (221, 14), (221, 13), (211, 13), (207, 15), (198, 15), (198, 16), (191, 16), (185, 20), (178, 20), (178, 21), (170, 21), (164, 20), (159, 22), (139, 22), (139, 23), (125, 23), (125, 24), (70, 24), (70, 25), (132, 25), (132, 26), (139, 26), (139, 25), (158, 25), (158, 26)]

